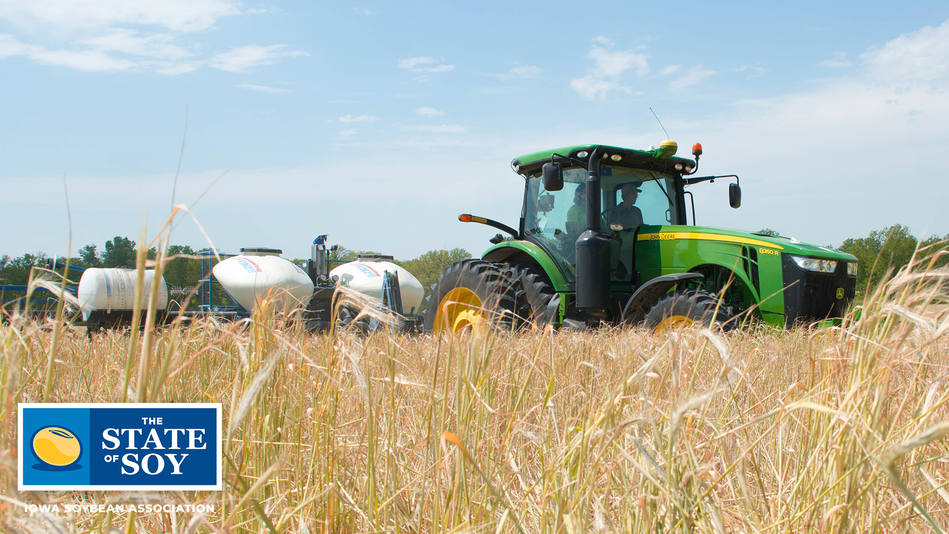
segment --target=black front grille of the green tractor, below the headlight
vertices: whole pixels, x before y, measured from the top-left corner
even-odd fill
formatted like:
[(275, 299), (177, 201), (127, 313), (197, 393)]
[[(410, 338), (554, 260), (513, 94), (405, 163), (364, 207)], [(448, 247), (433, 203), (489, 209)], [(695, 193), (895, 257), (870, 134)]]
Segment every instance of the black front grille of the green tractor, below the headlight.
[[(843, 317), (847, 312), (857, 287), (857, 278), (847, 276), (847, 261), (838, 261), (833, 274), (813, 273), (801, 269), (790, 256), (782, 254), (781, 270), (788, 326)], [(837, 298), (839, 289), (844, 290), (842, 298)]]

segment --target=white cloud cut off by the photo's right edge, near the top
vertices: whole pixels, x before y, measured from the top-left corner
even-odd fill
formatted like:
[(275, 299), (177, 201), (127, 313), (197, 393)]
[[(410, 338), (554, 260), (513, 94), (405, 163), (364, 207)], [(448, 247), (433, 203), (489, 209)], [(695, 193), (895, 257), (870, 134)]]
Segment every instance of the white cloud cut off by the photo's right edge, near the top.
[(881, 48), (860, 54), (877, 80), (933, 82), (949, 77), (949, 21), (902, 34)]

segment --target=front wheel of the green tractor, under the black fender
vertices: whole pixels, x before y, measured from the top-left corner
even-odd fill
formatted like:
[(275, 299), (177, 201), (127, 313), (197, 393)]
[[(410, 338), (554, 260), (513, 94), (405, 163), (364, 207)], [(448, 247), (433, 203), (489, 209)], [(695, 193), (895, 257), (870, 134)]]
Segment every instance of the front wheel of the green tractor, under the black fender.
[(730, 320), (732, 316), (732, 308), (715, 295), (702, 290), (680, 289), (659, 297), (646, 312), (642, 324), (656, 333), (696, 324), (728, 331), (735, 327), (735, 321)]

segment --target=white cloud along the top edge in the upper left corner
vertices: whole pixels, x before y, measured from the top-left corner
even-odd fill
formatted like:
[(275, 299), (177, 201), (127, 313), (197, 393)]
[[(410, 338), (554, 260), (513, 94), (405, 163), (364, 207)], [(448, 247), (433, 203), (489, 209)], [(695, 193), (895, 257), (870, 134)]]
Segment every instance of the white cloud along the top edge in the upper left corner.
[(104, 29), (116, 24), (155, 25), (174, 31), (208, 29), (240, 13), (234, 0), (4, 0), (0, 17), (19, 27)]

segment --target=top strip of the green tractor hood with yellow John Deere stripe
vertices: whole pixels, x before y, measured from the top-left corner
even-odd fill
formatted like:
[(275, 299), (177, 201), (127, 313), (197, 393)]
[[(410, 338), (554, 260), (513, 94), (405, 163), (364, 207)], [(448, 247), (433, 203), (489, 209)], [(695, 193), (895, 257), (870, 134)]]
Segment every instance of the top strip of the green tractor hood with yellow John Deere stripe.
[(783, 236), (775, 237), (767, 234), (759, 234), (757, 232), (733, 230), (731, 228), (714, 228), (711, 226), (642, 226), (639, 234), (639, 240), (674, 238), (733, 241), (759, 247), (768, 247), (797, 256), (843, 259), (847, 261), (857, 260), (857, 257), (847, 254), (846, 252), (805, 243), (795, 238), (785, 238)]

